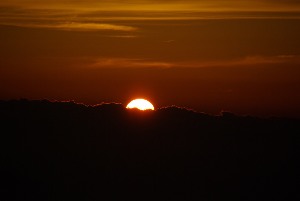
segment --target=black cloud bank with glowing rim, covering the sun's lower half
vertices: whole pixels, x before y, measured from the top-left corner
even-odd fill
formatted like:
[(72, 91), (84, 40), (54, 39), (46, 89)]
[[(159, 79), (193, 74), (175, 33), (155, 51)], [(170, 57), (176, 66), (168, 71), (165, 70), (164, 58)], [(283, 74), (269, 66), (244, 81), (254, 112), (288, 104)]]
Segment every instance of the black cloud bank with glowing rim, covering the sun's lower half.
[(0, 101), (3, 200), (292, 199), (299, 120)]

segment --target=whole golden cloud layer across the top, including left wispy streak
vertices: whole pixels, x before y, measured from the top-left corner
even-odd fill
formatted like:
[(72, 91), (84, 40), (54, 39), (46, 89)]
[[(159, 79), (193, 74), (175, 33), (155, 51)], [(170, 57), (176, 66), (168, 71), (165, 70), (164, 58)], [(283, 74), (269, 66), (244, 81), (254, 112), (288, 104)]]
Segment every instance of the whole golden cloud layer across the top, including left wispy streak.
[[(297, 1), (6, 1), (0, 3), (0, 23), (62, 29), (102, 29), (115, 20), (201, 20), (240, 18), (300, 18)], [(61, 25), (58, 25), (59, 21)], [(75, 24), (63, 24), (70, 21)], [(29, 22), (35, 22), (32, 25)], [(54, 23), (54, 25), (53, 25)], [(81, 24), (81, 23), (84, 23)], [(101, 25), (95, 25), (99, 23)], [(121, 26), (121, 25), (119, 25)], [(133, 28), (105, 26), (105, 29)]]

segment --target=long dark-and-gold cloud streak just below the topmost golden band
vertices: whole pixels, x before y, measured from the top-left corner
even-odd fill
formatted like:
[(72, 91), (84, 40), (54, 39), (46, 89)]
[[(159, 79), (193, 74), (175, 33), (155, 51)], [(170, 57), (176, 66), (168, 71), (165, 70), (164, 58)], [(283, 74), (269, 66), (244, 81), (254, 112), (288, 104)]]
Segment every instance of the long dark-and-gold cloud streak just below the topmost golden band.
[[(285, 18), (299, 19), (298, 11), (219, 11), (219, 10), (66, 10), (64, 9), (19, 9), (14, 7), (0, 7), (0, 20), (69, 20), (69, 21), (97, 21), (97, 20), (201, 20), (201, 19), (240, 19), (240, 18)], [(0, 22), (1, 22), (0, 21)]]

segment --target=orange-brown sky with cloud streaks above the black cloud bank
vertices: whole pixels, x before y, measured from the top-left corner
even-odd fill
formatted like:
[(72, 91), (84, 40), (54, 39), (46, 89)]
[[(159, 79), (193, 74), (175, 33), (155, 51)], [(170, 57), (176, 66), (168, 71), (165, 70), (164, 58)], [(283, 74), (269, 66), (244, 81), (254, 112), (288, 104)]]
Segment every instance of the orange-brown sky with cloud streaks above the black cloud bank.
[(298, 1), (2, 1), (0, 99), (300, 117)]

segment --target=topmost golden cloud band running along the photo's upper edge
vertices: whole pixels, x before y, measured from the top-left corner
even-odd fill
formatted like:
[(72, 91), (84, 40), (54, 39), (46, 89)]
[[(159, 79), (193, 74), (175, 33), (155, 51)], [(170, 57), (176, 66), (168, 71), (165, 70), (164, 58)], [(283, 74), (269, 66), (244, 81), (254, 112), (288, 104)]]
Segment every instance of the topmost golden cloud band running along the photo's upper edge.
[(187, 0), (187, 1), (50, 1), (42, 3), (38, 0), (2, 2), (3, 6), (19, 6), (27, 9), (61, 9), (92, 11), (92, 10), (160, 10), (160, 11), (299, 11), (300, 3), (292, 0)]

